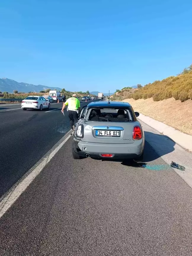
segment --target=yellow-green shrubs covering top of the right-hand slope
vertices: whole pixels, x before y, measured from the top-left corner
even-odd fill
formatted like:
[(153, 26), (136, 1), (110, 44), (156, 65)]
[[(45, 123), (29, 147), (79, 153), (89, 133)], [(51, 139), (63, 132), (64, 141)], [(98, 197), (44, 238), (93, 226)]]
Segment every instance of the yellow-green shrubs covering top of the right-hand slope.
[(143, 87), (138, 84), (136, 89), (124, 87), (116, 90), (111, 96), (111, 100), (124, 100), (133, 98), (148, 99), (153, 97), (153, 101), (166, 100), (175, 98), (184, 102), (192, 100), (192, 65), (179, 73), (177, 76), (169, 76), (161, 81), (156, 80), (153, 83), (145, 84)]

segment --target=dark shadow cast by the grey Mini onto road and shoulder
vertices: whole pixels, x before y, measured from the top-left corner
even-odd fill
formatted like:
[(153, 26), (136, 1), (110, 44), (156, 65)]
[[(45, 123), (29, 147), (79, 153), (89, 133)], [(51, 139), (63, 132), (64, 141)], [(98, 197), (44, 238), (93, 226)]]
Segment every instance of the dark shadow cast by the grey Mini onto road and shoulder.
[(175, 150), (174, 146), (175, 142), (168, 136), (153, 132), (145, 132), (145, 147), (142, 163), (135, 162), (132, 159), (102, 159), (102, 161), (121, 162), (121, 164), (126, 166), (144, 167), (146, 163), (173, 152)]

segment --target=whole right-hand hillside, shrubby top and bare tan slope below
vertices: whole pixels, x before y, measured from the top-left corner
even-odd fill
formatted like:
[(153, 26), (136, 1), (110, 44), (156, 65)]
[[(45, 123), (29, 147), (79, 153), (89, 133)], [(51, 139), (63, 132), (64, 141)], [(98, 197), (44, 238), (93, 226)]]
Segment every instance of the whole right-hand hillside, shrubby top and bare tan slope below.
[(117, 90), (111, 100), (129, 102), (135, 111), (192, 135), (192, 65), (177, 76), (137, 87)]

